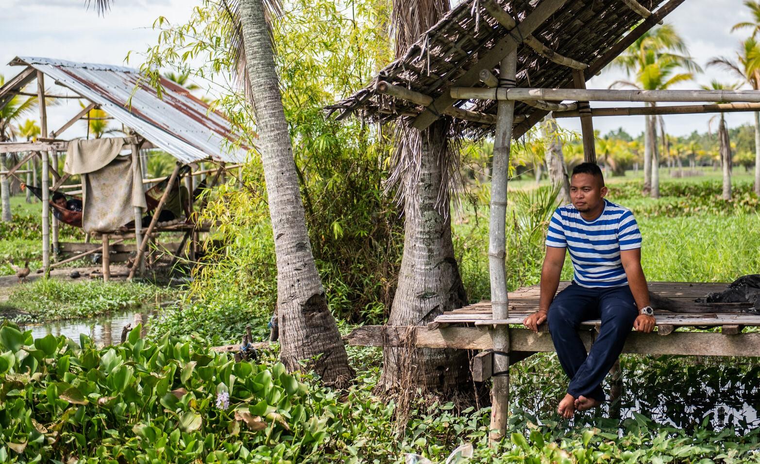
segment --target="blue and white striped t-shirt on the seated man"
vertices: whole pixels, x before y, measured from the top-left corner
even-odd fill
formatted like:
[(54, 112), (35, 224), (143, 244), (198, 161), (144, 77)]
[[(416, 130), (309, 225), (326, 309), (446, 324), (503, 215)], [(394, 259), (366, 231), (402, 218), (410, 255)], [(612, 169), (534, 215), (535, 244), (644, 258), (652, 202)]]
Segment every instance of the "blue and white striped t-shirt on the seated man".
[(567, 248), (582, 287), (622, 287), (628, 277), (620, 250), (641, 248), (641, 232), (628, 208), (604, 200), (602, 214), (586, 221), (573, 205), (560, 206), (549, 222), (546, 246)]

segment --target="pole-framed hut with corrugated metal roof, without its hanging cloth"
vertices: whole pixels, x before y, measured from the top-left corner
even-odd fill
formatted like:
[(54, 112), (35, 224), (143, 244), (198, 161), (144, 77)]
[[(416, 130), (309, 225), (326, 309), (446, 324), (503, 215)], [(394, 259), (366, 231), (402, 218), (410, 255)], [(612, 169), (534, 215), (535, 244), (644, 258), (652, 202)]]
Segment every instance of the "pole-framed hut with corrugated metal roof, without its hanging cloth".
[[(57, 265), (101, 251), (103, 279), (107, 281), (111, 275), (112, 258), (126, 261), (131, 252), (136, 252), (134, 263), (129, 271), (131, 279), (138, 269), (144, 268), (143, 256), (147, 247), (156, 234), (161, 232), (184, 233), (182, 242), (167, 244), (169, 245), (167, 248), (173, 254), (179, 254), (185, 245), (188, 245), (188, 259), (194, 260), (198, 234), (207, 231), (208, 226), (195, 223), (159, 224), (158, 217), (166, 204), (169, 192), (177, 182), (183, 165), (190, 165), (192, 168), (201, 161), (215, 165), (214, 168), (200, 171), (196, 168), (195, 172), (185, 176), (188, 192), (191, 193), (190, 207), (192, 209), (195, 177), (201, 174), (207, 174), (207, 176), (214, 174), (210, 186), (213, 187), (224, 172), (239, 168), (239, 163), (245, 161), (247, 149), (233, 147), (235, 137), (229, 121), (218, 111), (211, 110), (207, 103), (192, 96), (187, 89), (163, 78), (160, 81), (163, 92), (159, 96), (155, 89), (144, 82), (139, 71), (128, 67), (33, 57), (17, 57), (10, 64), (24, 66), (24, 70), (0, 88), (0, 108), (7, 105), (14, 96), (26, 95), (23, 92), (24, 87), (36, 80), (36, 96), (40, 108), (40, 133), (43, 135), (34, 142), (0, 143), (0, 152), (25, 153), (17, 165), (0, 174), (14, 175), (34, 157), (42, 161), (43, 271), (49, 271)], [(68, 95), (63, 97), (46, 95), (46, 77), (57, 86), (62, 86)], [(59, 129), (49, 130), (46, 99), (50, 98), (79, 99), (85, 102), (84, 108)], [(135, 225), (131, 229), (103, 230), (93, 234), (93, 237), (100, 239), (101, 246), (94, 243), (59, 243), (58, 221), (53, 219), (52, 224), (50, 221), (49, 193), (64, 186), (69, 177), (69, 174), (58, 172), (58, 153), (65, 152), (69, 143), (61, 136), (78, 121), (87, 121), (88, 114), (93, 108), (102, 108), (109, 114), (109, 118), (113, 118), (128, 128), (125, 129), (128, 135), (124, 137), (124, 142), (125, 146), (131, 147), (132, 173), (135, 178), (141, 179), (144, 184), (158, 183), (167, 178), (146, 178), (145, 165), (147, 163), (141, 155), (143, 149), (162, 149), (176, 158), (176, 167), (168, 177), (166, 190), (146, 230), (142, 230), (141, 227), (144, 212), (141, 208), (135, 207)], [(52, 168), (51, 158), (54, 161)], [(81, 185), (66, 187), (75, 188)], [(131, 238), (135, 238), (135, 245), (128, 246), (121, 243)], [(70, 252), (74, 256), (51, 263), (51, 250), (55, 252), (54, 255), (58, 252)]]

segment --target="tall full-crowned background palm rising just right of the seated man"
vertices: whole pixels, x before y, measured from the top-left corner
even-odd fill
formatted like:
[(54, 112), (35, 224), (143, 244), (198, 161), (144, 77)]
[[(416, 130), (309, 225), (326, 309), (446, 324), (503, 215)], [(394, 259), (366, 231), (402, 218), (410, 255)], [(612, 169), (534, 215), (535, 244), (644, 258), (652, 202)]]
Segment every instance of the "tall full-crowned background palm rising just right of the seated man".
[[(689, 56), (686, 43), (670, 24), (644, 33), (615, 58), (613, 66), (622, 68), (634, 79), (619, 80), (612, 86), (646, 90), (668, 89), (676, 83), (694, 79), (694, 73), (701, 71)], [(648, 106), (654, 106), (654, 103), (648, 103)], [(657, 198), (660, 196), (657, 118), (644, 118), (644, 191), (651, 192), (651, 196)]]

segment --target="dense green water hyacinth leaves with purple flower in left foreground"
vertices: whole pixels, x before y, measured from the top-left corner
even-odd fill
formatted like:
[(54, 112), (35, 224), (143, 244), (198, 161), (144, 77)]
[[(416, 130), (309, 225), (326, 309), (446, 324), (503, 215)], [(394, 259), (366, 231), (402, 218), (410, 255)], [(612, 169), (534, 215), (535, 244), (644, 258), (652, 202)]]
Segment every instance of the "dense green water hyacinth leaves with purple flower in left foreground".
[(2, 326), (0, 461), (299, 462), (324, 442), (328, 419), (283, 365), (140, 331), (100, 349)]

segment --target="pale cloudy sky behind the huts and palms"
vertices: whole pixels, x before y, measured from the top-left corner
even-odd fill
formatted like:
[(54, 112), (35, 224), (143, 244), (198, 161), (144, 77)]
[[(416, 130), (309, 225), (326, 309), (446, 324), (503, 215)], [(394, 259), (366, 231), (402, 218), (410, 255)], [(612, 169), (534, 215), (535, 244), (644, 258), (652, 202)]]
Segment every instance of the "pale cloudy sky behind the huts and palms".
[[(116, 0), (111, 11), (99, 17), (85, 8), (87, 0), (0, 0), (0, 74), (6, 78), (21, 71), (20, 67), (7, 66), (14, 56), (41, 56), (71, 61), (104, 64), (125, 64), (128, 52), (144, 52), (157, 42), (154, 20), (165, 16), (172, 23), (182, 23), (190, 17), (198, 0)], [(720, 8), (714, 8), (716, 3)], [(709, 13), (708, 13), (709, 12)], [(705, 67), (715, 56), (733, 57), (746, 32), (730, 33), (731, 26), (749, 20), (749, 12), (742, 0), (686, 0), (667, 17), (689, 45), (695, 61)], [(139, 55), (132, 55), (129, 66), (140, 64)], [(625, 79), (620, 71), (603, 71), (588, 83), (589, 89), (606, 89), (616, 80)], [(675, 88), (695, 89), (717, 79), (735, 82), (724, 71), (709, 68), (697, 77), (696, 83), (683, 83)], [(597, 103), (597, 106), (623, 106)], [(635, 104), (630, 104), (635, 105)], [(59, 127), (78, 111), (78, 103), (68, 101), (55, 108), (49, 117), (51, 127)], [(36, 118), (36, 115), (30, 115)], [(711, 114), (665, 116), (668, 133), (688, 135), (693, 130), (705, 132)], [(752, 122), (752, 113), (729, 113), (730, 127)], [(564, 127), (580, 130), (577, 119), (563, 119)], [(84, 128), (84, 123), (81, 123)], [(632, 135), (644, 130), (643, 116), (595, 118), (594, 129), (605, 134), (623, 127)], [(67, 134), (68, 135), (68, 134)], [(75, 134), (72, 134), (75, 135)]]

